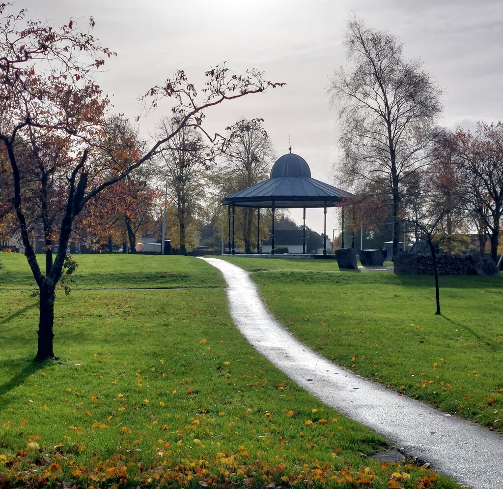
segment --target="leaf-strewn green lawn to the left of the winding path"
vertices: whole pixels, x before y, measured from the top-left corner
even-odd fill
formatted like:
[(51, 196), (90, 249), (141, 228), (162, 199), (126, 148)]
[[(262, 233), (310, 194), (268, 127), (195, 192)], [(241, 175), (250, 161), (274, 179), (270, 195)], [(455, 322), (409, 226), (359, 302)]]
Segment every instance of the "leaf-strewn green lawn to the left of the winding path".
[[(20, 257), (0, 257), (0, 487), (459, 487), (367, 458), (385, 441), (259, 355), (202, 260), (79, 256), (80, 287), (134, 282), (58, 294), (59, 360), (35, 364), (37, 300)], [(164, 272), (183, 280), (145, 290)]]

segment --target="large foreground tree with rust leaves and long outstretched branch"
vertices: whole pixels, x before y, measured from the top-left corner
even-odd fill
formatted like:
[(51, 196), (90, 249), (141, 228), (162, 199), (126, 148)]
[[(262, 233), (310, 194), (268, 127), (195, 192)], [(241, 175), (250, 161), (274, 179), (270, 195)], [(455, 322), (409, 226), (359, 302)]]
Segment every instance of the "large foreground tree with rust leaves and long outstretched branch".
[[(198, 93), (178, 71), (143, 97), (147, 110), (164, 99), (172, 102), (173, 131), (141, 153), (125, 155), (120, 148), (103, 144), (109, 99), (94, 75), (115, 53), (92, 34), (94, 20), (83, 28), (73, 20), (58, 28), (28, 19), (26, 10), (10, 10), (11, 5), (0, 5), (0, 143), (12, 194), (8, 211), (16, 216), (38, 288), (36, 360), (41, 361), (54, 358), (55, 291), (65, 268), (71, 272), (74, 267), (66, 249), (82, 209), (150, 160), (185, 127), (201, 128), (206, 109), (282, 84), (265, 80), (256, 70), (240, 76), (220, 65), (209, 69)], [(218, 136), (203, 133), (216, 142)], [(43, 264), (31, 240), (35, 223), (43, 227), (47, 244)], [(53, 244), (58, 245), (55, 256)]]

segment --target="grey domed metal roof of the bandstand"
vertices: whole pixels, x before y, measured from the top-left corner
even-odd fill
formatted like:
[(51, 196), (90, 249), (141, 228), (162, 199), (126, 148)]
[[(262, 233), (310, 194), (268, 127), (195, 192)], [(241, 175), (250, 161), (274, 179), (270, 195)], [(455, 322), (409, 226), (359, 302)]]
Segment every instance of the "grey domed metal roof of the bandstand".
[(337, 207), (354, 198), (350, 192), (311, 178), (306, 160), (287, 153), (276, 160), (263, 182), (228, 195), (222, 204), (238, 207)]

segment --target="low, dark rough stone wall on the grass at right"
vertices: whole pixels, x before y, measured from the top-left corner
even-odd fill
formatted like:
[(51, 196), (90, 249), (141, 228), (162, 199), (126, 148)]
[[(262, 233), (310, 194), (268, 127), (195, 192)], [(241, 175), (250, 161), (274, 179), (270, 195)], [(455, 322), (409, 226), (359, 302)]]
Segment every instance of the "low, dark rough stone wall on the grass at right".
[[(438, 253), (437, 271), (439, 275), (495, 275), (496, 264), (490, 256), (480, 253), (451, 255)], [(433, 260), (430, 253), (399, 253), (393, 261), (397, 275), (424, 274), (433, 275)]]

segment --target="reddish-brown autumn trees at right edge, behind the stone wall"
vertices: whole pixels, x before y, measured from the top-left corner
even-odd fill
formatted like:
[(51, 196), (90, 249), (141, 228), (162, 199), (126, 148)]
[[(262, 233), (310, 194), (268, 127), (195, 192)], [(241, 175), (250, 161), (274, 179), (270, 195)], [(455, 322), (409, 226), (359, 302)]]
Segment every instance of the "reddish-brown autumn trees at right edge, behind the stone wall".
[[(444, 246), (452, 250), (475, 228), (480, 252), (486, 251), (488, 237), (496, 262), (503, 216), (503, 124), (479, 121), (475, 132), (438, 129), (434, 136), (425, 174), (430, 175), (432, 209), (437, 208), (437, 215), (438, 208), (449, 209), (439, 223)], [(421, 207), (411, 186), (405, 193), (406, 207)], [(462, 244), (469, 243), (465, 239)]]

